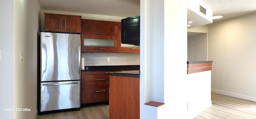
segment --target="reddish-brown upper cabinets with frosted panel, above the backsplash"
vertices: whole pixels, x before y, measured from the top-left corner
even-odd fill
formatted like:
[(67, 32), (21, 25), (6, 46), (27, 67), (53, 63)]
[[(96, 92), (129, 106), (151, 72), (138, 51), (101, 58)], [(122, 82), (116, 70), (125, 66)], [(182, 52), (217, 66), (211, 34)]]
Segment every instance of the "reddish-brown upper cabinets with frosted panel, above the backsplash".
[(140, 53), (140, 47), (121, 44), (121, 22), (81, 20), (82, 52)]

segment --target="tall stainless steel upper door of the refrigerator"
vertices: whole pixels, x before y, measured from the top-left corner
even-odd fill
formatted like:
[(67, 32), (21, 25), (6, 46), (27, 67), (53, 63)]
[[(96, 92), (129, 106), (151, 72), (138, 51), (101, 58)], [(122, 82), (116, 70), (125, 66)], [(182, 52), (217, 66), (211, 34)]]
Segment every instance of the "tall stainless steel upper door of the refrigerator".
[(41, 32), (41, 82), (80, 80), (80, 34)]

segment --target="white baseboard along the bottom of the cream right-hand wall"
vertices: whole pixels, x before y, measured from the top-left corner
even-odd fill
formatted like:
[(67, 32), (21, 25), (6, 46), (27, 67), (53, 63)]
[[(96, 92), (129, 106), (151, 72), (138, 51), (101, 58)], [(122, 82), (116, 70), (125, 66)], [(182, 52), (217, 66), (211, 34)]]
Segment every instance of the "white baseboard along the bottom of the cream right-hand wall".
[(236, 94), (236, 93), (231, 93), (231, 92), (226, 92), (226, 91), (216, 90), (216, 89), (212, 89), (212, 92), (217, 93), (217, 94), (222, 94), (222, 95), (226, 95), (226, 96), (231, 96), (231, 97), (235, 97), (235, 98), (246, 99), (246, 100), (256, 102), (256, 97), (252, 97), (252, 96), (246, 96), (246, 95), (241, 95), (241, 94)]

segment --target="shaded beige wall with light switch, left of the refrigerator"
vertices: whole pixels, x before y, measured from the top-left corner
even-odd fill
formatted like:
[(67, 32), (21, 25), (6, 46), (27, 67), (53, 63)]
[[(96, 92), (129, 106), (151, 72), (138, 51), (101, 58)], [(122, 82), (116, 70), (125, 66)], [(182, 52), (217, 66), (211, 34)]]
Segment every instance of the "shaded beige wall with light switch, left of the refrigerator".
[[(14, 107), (15, 119), (33, 119), (37, 113), (37, 35), (40, 29), (37, 0), (14, 0)], [(23, 59), (20, 61), (20, 51)]]

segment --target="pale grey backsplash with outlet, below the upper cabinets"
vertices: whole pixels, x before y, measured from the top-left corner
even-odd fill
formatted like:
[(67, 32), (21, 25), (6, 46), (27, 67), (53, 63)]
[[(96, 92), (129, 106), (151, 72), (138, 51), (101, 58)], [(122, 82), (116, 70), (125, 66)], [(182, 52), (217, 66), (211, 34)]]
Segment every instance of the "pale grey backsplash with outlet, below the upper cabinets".
[(140, 53), (81, 53), (81, 58), (84, 66), (140, 65)]

